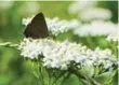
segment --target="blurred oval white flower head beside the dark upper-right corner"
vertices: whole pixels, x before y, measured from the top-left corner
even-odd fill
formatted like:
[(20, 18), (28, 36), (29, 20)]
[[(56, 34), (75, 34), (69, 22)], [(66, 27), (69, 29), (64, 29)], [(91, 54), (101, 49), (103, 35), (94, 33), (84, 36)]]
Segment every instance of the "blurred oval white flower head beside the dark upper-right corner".
[(84, 11), (82, 11), (79, 14), (80, 19), (83, 22), (90, 22), (95, 19), (110, 19), (111, 18), (111, 12), (107, 9), (101, 9), (101, 8), (89, 8)]

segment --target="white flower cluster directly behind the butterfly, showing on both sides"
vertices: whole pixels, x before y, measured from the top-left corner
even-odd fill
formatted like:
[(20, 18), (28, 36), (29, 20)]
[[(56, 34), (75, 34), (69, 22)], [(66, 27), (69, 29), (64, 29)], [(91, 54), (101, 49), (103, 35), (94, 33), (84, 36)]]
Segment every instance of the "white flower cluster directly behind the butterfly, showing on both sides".
[[(31, 22), (32, 17), (23, 18), (23, 24), (27, 26)], [(58, 36), (60, 33), (67, 32), (68, 30), (75, 29), (80, 26), (80, 23), (77, 19), (61, 20), (58, 17), (54, 17), (53, 19), (45, 18), (48, 30), (53, 36)]]

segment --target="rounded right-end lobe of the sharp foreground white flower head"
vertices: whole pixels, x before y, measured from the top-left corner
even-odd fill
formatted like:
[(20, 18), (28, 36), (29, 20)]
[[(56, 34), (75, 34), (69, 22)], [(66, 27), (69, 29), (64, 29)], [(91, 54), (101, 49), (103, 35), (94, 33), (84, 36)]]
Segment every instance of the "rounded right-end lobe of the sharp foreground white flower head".
[(107, 69), (114, 65), (116, 57), (111, 54), (110, 49), (100, 49), (95, 48), (93, 52), (89, 52), (90, 60), (94, 66), (104, 66), (104, 69)]

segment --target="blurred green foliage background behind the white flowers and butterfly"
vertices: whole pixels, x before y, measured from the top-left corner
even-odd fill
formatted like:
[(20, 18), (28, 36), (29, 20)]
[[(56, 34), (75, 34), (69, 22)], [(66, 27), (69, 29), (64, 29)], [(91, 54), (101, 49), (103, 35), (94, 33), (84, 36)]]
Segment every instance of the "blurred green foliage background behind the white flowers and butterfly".
[[(47, 17), (60, 17), (61, 19), (78, 18), (77, 15), (68, 13), (69, 4), (72, 1), (0, 1), (0, 43), (13, 42), (19, 43), (23, 39), (23, 31), (25, 26), (22, 25), (24, 17), (32, 16), (42, 12)], [(118, 22), (118, 2), (117, 1), (100, 1), (98, 6), (109, 9), (113, 12), (111, 22)], [(70, 41), (81, 42), (91, 48), (97, 45), (102, 48), (109, 47), (115, 55), (115, 45), (111, 46), (103, 37), (85, 40), (83, 38), (71, 37), (70, 32), (61, 36), (58, 39), (63, 40), (65, 37), (70, 38)], [(80, 40), (80, 41), (78, 41)], [(90, 42), (90, 44), (88, 43)], [(103, 43), (103, 44), (102, 44)], [(93, 46), (91, 45), (93, 44)], [(19, 56), (19, 52), (14, 48), (0, 47), (0, 85), (38, 85), (37, 79), (31, 75), (30, 69)], [(68, 79), (64, 85), (82, 85), (74, 75)], [(117, 85), (117, 76), (115, 76), (114, 84)]]

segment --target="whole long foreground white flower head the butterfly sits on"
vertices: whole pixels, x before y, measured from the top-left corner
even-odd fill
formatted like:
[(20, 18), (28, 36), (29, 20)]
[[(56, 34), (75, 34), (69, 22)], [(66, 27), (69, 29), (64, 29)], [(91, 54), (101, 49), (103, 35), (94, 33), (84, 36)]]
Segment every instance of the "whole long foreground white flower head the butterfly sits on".
[(81, 44), (67, 41), (56, 42), (50, 39), (24, 39), (18, 49), (21, 49), (21, 55), (24, 57), (29, 59), (40, 58), (44, 67), (61, 70), (67, 70), (71, 66), (78, 68), (84, 68), (85, 66), (87, 68), (89, 65), (103, 65), (107, 69), (116, 61), (109, 49), (96, 48), (91, 51)]

